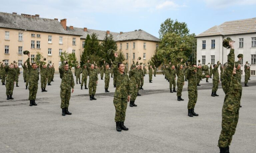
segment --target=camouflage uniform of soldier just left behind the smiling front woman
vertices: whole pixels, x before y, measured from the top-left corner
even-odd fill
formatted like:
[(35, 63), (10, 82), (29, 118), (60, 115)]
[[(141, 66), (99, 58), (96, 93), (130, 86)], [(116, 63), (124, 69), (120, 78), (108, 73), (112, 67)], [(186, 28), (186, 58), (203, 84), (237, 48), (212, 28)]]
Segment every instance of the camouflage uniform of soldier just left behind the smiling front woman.
[(95, 69), (90, 69), (89, 72), (89, 95), (95, 95), (96, 93), (96, 82), (98, 81), (98, 73)]

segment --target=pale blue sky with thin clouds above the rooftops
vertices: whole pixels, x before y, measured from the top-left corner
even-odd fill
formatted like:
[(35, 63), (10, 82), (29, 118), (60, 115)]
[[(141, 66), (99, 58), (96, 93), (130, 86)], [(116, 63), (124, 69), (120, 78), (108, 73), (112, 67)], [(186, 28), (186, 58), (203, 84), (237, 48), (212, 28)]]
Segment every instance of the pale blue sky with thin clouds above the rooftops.
[(67, 19), (67, 26), (112, 32), (142, 29), (156, 37), (167, 18), (196, 35), (226, 21), (256, 17), (256, 0), (11, 0), (0, 12)]

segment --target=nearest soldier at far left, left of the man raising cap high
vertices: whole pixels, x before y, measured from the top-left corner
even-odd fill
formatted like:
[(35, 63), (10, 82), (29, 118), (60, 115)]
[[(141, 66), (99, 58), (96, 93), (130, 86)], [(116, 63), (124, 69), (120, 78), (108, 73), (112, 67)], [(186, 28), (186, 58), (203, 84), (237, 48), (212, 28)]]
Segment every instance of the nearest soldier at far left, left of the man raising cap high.
[(13, 94), (14, 83), (17, 78), (16, 75), (18, 74), (13, 64), (10, 64), (10, 66), (6, 65), (4, 69), (7, 74), (5, 87), (6, 87), (7, 100), (9, 100), (9, 99), (13, 99), (12, 94)]

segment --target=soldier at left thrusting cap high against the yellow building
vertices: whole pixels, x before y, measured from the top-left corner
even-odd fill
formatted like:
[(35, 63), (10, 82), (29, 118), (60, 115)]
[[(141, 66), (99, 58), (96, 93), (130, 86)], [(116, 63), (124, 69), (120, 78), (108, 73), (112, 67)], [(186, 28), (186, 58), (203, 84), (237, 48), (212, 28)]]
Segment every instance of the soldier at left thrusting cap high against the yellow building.
[(29, 86), (28, 86), (28, 90), (29, 90), (29, 101), (30, 104), (29, 106), (36, 106), (36, 93), (37, 93), (37, 89), (38, 89), (38, 80), (39, 80), (39, 72), (37, 69), (37, 65), (36, 63), (32, 63), (30, 65), (29, 62), (29, 57), (30, 54), (28, 53), (28, 59), (27, 59), (27, 65), (28, 65), (28, 69), (29, 69)]

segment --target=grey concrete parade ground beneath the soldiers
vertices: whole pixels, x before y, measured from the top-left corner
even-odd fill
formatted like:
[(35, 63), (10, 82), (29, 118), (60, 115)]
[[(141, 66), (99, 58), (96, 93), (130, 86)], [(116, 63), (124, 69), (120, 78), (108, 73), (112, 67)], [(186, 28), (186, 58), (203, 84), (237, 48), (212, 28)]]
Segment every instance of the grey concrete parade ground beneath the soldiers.
[[(173, 152), (217, 153), (221, 131), (221, 109), (224, 92), (221, 83), (217, 94), (211, 97), (212, 79), (205, 79), (198, 87), (195, 112), (187, 116), (187, 82), (182, 92), (184, 101), (177, 101), (170, 93), (163, 75), (153, 76), (153, 83), (144, 78), (142, 96), (127, 107), (125, 125), (128, 131), (115, 129), (113, 79), (110, 93), (104, 92), (104, 80), (99, 80), (95, 97), (90, 101), (88, 90), (75, 84), (69, 111), (61, 116), (60, 82), (56, 74), (48, 92), (41, 92), (40, 81), (37, 106), (29, 106), (28, 90), (19, 78), (14, 87), (14, 100), (6, 100), (5, 86), (0, 85), (0, 152)], [(99, 77), (100, 78), (100, 77)], [(244, 77), (242, 77), (244, 80)], [(244, 83), (242, 83), (244, 85)], [(256, 77), (249, 87), (243, 87), (239, 121), (230, 146), (232, 153), (255, 153), (256, 139)], [(177, 89), (177, 87), (176, 87)]]

